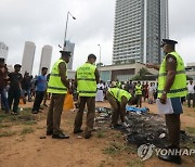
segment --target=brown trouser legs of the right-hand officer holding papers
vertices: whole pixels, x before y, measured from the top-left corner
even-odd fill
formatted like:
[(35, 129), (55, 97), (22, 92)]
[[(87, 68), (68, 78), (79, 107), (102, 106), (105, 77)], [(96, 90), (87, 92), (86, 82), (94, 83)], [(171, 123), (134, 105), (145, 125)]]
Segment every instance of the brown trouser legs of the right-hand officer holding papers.
[(166, 125), (171, 147), (180, 146), (180, 114), (166, 114)]

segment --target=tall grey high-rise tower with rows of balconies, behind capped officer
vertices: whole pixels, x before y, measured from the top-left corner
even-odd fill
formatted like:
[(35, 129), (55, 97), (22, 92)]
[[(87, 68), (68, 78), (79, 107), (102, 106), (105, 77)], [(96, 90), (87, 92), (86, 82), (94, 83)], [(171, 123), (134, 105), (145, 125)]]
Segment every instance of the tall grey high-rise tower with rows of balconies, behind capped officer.
[(161, 62), (168, 0), (116, 0), (113, 64)]

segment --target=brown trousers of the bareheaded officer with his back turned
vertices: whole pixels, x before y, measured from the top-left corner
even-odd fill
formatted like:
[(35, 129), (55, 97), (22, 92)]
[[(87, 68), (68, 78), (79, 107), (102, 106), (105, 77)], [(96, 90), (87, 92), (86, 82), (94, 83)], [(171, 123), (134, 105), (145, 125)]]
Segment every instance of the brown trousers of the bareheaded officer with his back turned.
[(82, 126), (82, 116), (87, 103), (88, 113), (87, 113), (87, 127), (84, 131), (91, 132), (93, 130), (94, 116), (95, 116), (95, 97), (79, 97), (79, 99), (80, 99), (80, 103), (79, 103), (79, 111), (77, 112), (75, 118), (75, 130), (79, 130)]

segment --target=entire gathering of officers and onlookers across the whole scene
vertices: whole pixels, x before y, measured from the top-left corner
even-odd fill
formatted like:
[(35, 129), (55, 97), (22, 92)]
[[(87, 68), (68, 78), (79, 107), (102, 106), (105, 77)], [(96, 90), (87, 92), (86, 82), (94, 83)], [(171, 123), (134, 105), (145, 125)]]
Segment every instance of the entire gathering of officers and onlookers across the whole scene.
[[(173, 110), (172, 114), (166, 114), (170, 149), (179, 149), (180, 114), (183, 113), (181, 99), (187, 98), (188, 107), (191, 107), (191, 100), (193, 100), (193, 107), (195, 107), (195, 86), (193, 80), (186, 86), (184, 64), (181, 56), (174, 51), (176, 43), (177, 41), (165, 39), (161, 47), (166, 56), (161, 65), (146, 65), (148, 68), (159, 70), (158, 84), (132, 80), (104, 82), (100, 80), (99, 70), (94, 65), (96, 61), (94, 54), (88, 55), (87, 62), (77, 68), (75, 79), (72, 80), (67, 78), (66, 64), (70, 56), (68, 51), (61, 51), (61, 57), (54, 63), (49, 75), (47, 75), (48, 68), (42, 67), (41, 74), (35, 78), (27, 72), (23, 76), (20, 73), (22, 67), (20, 64), (15, 64), (14, 72), (9, 73), (4, 59), (0, 59), (1, 108), (5, 113), (16, 115), (18, 114), (21, 99), (24, 103), (34, 100), (31, 113), (38, 114), (41, 112), (40, 104), (42, 101), (47, 106), (46, 102), (52, 94), (47, 117), (47, 136), (52, 136), (53, 139), (68, 139), (69, 136), (64, 133), (60, 126), (65, 95), (73, 93), (74, 99), (79, 102), (74, 133), (83, 131), (83, 137), (89, 139), (93, 131), (95, 101), (103, 102), (107, 100), (110, 103), (113, 108), (110, 126), (116, 128), (120, 126), (118, 125), (119, 117), (122, 125), (126, 126), (125, 106), (127, 104), (135, 104), (136, 107), (142, 107), (142, 101), (153, 104), (157, 98), (159, 98), (160, 103), (166, 104), (169, 98)], [(86, 104), (88, 108), (87, 126), (82, 130)], [(160, 155), (159, 158), (181, 163), (180, 156)]]

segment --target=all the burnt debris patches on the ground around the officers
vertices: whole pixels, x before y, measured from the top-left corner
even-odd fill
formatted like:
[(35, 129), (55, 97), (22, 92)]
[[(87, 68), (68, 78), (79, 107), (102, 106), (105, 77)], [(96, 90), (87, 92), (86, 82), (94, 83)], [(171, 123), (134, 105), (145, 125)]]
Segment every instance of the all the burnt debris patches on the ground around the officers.
[[(95, 123), (99, 126), (108, 124), (110, 120), (110, 108), (96, 107), (98, 116)], [(156, 146), (166, 146), (168, 144), (168, 133), (164, 117), (153, 113), (128, 112), (128, 127), (120, 128), (125, 134), (125, 140), (138, 146), (151, 143)], [(105, 126), (104, 126), (105, 127)], [(181, 142), (195, 142), (185, 131), (181, 130)]]

